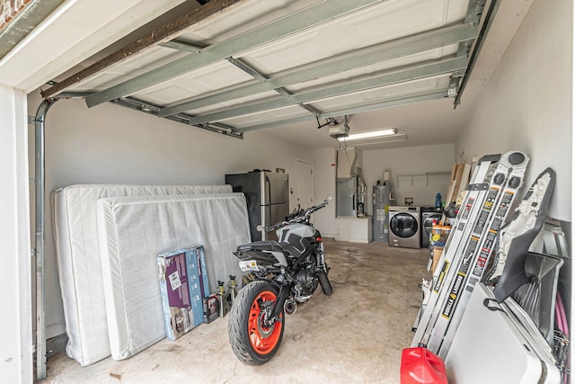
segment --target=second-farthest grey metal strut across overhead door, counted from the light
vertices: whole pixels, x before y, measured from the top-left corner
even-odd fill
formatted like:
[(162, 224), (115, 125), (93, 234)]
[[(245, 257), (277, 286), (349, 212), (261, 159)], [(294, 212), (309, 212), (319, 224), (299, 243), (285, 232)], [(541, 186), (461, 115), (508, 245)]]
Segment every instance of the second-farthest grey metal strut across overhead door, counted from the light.
[(323, 88), (316, 91), (305, 92), (302, 94), (293, 94), (285, 96), (281, 99), (273, 99), (269, 101), (251, 103), (228, 109), (222, 112), (208, 113), (199, 115), (190, 120), (190, 124), (205, 124), (208, 121), (222, 121), (236, 116), (243, 116), (255, 112), (262, 112), (267, 110), (278, 109), (287, 107), (289, 105), (296, 105), (298, 103), (308, 103), (314, 100), (327, 99), (342, 94), (352, 94), (368, 89), (378, 88), (386, 85), (394, 85), (406, 81), (413, 81), (421, 78), (439, 76), (444, 74), (453, 73), (454, 71), (464, 69), (467, 66), (466, 58), (451, 58), (438, 63), (429, 64), (426, 66), (412, 67), (386, 73), (382, 76), (373, 76), (367, 79), (358, 80), (355, 82), (346, 82), (344, 84), (335, 85)]

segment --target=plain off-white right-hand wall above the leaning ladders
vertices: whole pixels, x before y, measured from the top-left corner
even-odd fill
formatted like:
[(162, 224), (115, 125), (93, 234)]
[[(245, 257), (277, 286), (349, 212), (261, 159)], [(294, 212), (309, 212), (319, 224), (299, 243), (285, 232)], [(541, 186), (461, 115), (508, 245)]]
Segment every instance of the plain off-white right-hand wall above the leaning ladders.
[[(550, 216), (571, 221), (572, 2), (536, 0), (481, 95), (456, 153), (518, 149), (531, 158), (526, 183), (557, 173)], [(463, 98), (464, 103), (464, 98)]]

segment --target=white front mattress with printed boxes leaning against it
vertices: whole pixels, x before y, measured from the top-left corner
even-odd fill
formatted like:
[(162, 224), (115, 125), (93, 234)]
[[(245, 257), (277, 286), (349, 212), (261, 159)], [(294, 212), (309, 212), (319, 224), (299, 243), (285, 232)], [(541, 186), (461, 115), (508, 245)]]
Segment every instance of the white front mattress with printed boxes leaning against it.
[(113, 359), (165, 337), (157, 255), (203, 245), (210, 291), (240, 275), (232, 252), (250, 241), (243, 193), (98, 201), (102, 278)]

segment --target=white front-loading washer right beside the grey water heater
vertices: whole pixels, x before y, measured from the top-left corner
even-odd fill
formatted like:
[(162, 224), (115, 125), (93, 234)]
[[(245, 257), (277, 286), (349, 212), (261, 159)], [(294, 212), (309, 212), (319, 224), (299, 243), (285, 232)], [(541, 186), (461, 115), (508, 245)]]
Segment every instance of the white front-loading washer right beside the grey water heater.
[(389, 245), (402, 248), (421, 247), (420, 207), (389, 207)]

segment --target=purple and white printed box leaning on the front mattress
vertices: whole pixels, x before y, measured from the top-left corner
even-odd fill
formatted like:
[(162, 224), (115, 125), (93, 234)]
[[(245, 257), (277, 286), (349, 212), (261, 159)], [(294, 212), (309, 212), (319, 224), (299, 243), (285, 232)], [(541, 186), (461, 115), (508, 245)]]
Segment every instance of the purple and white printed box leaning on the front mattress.
[(158, 255), (157, 263), (165, 334), (170, 340), (176, 340), (190, 331), (193, 324), (186, 255), (179, 251)]

